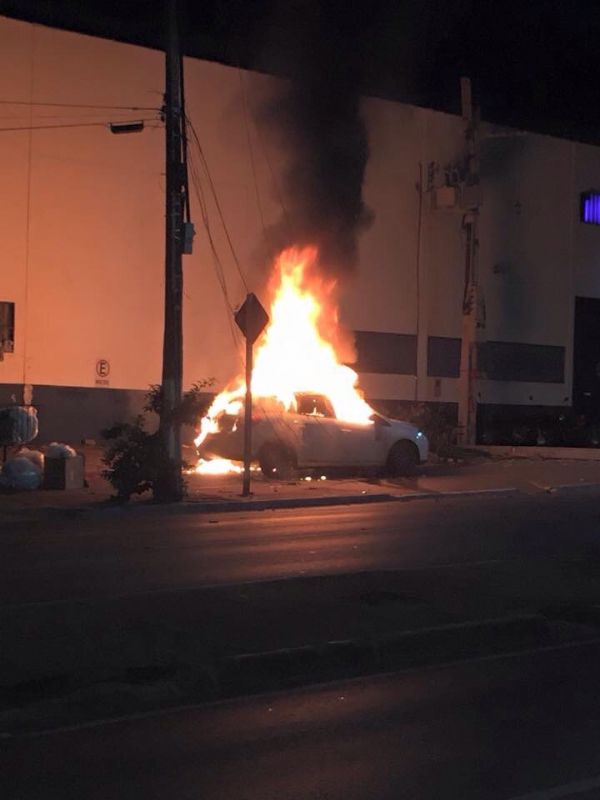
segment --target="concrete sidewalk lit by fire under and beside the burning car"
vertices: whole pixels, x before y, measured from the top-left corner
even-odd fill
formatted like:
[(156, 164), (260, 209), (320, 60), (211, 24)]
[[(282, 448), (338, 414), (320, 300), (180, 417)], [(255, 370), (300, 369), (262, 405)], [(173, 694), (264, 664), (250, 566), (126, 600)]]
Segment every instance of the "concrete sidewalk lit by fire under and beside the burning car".
[[(101, 477), (99, 449), (86, 452), (88, 487), (70, 491), (36, 491), (0, 495), (4, 519), (42, 510), (94, 510), (110, 502), (112, 490)], [(253, 475), (252, 494), (241, 496), (241, 476), (186, 475), (188, 510), (237, 511), (336, 505), (378, 501), (411, 501), (446, 495), (479, 493), (554, 492), (580, 487), (600, 487), (600, 461), (540, 458), (489, 458), (471, 456), (468, 461), (430, 463), (411, 478), (395, 480), (361, 477), (327, 477), (294, 481), (267, 481)], [(149, 506), (149, 495), (132, 499)]]

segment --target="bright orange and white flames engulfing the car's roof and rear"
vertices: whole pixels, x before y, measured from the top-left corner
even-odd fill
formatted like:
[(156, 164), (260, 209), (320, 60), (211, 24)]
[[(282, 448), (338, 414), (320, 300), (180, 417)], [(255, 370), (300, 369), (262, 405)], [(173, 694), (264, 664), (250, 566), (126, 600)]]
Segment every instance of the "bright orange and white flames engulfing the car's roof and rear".
[[(325, 395), (338, 419), (368, 424), (373, 409), (357, 388), (358, 375), (341, 363), (352, 348), (339, 323), (336, 289), (335, 280), (320, 275), (315, 247), (278, 256), (268, 287), (270, 322), (255, 347), (252, 393), (275, 399), (286, 411), (295, 409), (296, 392)], [(245, 391), (238, 378), (215, 398), (197, 445), (217, 431), (219, 414), (240, 411)]]

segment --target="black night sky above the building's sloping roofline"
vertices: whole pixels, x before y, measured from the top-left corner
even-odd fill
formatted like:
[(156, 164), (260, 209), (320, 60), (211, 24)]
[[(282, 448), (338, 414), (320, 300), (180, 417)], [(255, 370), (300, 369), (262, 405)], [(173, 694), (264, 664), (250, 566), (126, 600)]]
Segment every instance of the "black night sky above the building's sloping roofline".
[[(600, 142), (600, 4), (587, 0), (181, 0), (185, 51), (293, 75), (307, 9), (336, 50), (360, 52), (366, 94), (458, 111), (468, 74), (484, 119)], [(157, 2), (3, 0), (0, 13), (162, 45)]]

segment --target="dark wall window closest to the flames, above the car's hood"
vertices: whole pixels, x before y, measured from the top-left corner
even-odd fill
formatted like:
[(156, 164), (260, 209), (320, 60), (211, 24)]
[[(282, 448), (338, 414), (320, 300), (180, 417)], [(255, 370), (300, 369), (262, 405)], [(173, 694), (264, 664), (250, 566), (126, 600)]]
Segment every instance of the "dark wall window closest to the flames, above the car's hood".
[(358, 372), (416, 375), (417, 337), (405, 333), (355, 331)]

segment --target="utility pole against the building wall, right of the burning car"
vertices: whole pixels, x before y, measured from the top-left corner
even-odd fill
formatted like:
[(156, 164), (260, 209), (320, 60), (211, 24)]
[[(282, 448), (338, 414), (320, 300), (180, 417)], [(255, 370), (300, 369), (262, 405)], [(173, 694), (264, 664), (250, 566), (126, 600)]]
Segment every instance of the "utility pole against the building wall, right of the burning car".
[(462, 117), (465, 126), (466, 170), (463, 178), (462, 204), (465, 210), (465, 282), (462, 307), (462, 340), (458, 386), (458, 438), (464, 445), (475, 444), (477, 435), (477, 331), (479, 327), (479, 112), (473, 111), (471, 81), (460, 79)]

